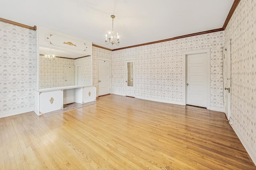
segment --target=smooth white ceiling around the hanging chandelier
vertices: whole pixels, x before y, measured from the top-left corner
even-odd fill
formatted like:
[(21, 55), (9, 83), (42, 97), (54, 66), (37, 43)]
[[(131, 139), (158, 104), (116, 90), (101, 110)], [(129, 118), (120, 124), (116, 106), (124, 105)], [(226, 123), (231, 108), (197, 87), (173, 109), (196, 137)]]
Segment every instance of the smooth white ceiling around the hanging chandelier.
[[(1, 0), (0, 18), (117, 49), (221, 28), (234, 0)], [(105, 45), (112, 29), (120, 45)]]

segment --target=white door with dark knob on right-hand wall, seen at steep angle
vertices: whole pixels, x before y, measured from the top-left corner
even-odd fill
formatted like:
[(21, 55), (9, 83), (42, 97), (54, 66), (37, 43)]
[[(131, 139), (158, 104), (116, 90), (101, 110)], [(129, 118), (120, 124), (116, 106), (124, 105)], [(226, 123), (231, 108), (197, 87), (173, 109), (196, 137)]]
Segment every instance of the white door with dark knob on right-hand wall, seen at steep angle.
[(231, 117), (230, 113), (230, 96), (231, 96), (231, 65), (230, 65), (230, 41), (223, 47), (223, 97), (224, 97), (224, 113), (227, 119)]

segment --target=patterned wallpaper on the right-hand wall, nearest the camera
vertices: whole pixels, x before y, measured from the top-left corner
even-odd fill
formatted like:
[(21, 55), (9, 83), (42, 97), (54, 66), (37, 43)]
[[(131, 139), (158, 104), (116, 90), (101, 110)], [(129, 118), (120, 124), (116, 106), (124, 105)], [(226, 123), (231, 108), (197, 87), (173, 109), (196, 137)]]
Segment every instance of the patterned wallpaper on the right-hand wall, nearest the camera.
[(256, 152), (256, 2), (241, 0), (228, 26), (231, 39), (231, 119)]

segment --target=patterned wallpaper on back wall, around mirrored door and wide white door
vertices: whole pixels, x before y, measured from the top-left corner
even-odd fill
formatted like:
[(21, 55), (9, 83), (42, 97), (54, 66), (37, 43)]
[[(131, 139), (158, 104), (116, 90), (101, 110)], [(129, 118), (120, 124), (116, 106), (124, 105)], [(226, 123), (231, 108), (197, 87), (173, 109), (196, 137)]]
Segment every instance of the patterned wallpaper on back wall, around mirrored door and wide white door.
[(125, 59), (136, 58), (136, 95), (182, 102), (183, 53), (209, 49), (210, 105), (223, 107), (224, 31), (113, 51), (112, 92), (125, 94)]

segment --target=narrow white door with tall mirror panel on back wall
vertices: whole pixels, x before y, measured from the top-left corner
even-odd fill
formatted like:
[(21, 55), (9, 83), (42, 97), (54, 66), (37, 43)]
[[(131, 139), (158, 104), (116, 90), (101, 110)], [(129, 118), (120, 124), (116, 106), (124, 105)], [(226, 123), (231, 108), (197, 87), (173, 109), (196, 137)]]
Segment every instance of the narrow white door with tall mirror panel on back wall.
[(135, 59), (126, 60), (126, 96), (135, 97), (136, 91), (136, 73)]

